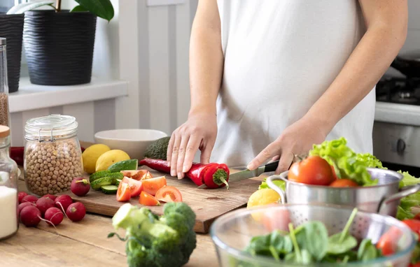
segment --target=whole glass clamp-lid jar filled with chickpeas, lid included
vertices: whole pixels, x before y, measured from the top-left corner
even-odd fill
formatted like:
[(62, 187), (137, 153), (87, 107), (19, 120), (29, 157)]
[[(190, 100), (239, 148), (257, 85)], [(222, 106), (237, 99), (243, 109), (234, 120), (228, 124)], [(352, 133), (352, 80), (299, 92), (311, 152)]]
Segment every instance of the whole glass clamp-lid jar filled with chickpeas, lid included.
[(25, 127), (25, 182), (36, 196), (70, 189), (83, 174), (75, 117), (49, 115), (28, 120)]

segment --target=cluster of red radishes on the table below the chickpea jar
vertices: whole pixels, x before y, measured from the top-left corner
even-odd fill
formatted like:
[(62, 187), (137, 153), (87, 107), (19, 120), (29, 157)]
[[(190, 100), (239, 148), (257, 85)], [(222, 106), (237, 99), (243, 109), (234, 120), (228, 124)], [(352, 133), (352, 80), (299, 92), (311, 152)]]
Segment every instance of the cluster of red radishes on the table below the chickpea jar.
[(20, 222), (27, 227), (35, 227), (45, 221), (47, 224), (57, 226), (61, 224), (64, 215), (72, 222), (79, 222), (86, 214), (83, 203), (75, 202), (71, 196), (53, 196), (47, 194), (41, 198), (19, 192), (19, 217)]

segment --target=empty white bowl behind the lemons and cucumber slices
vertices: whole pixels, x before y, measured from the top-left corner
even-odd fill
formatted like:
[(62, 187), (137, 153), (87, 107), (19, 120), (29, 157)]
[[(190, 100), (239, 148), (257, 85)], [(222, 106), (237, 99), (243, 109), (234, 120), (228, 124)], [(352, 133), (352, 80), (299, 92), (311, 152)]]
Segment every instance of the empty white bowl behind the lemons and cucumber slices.
[(148, 145), (166, 136), (166, 133), (152, 129), (116, 129), (99, 131), (94, 134), (94, 140), (108, 145), (111, 150), (123, 150), (132, 159), (141, 160)]

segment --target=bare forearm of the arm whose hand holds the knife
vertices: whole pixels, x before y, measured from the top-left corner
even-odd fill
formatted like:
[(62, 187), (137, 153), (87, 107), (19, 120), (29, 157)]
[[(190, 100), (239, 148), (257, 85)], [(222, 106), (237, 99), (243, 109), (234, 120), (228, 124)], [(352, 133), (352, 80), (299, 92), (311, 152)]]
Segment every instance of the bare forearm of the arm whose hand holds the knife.
[(323, 125), (327, 132), (372, 90), (405, 42), (407, 14), (403, 4), (394, 10), (393, 15), (398, 18), (389, 18), (390, 10), (379, 13), (372, 11), (374, 6), (368, 8), (365, 35), (337, 78), (305, 115)]

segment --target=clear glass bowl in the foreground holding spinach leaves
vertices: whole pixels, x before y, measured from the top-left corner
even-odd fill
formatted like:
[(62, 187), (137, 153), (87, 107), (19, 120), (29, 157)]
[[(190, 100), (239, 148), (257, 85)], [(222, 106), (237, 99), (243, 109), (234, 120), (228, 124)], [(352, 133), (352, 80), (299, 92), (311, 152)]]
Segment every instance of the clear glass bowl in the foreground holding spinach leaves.
[[(271, 266), (339, 266), (339, 264), (286, 264), (275, 261), (272, 257), (251, 256), (244, 252), (253, 236), (261, 236), (278, 229), (288, 231), (288, 222), (294, 227), (308, 221), (325, 224), (328, 236), (344, 229), (353, 208), (338, 205), (284, 204), (265, 205), (257, 208), (241, 208), (228, 212), (211, 225), (210, 235), (216, 246), (218, 262), (222, 267), (271, 267)], [(416, 239), (411, 229), (404, 223), (390, 216), (358, 211), (349, 232), (360, 243), (363, 238), (370, 238), (376, 244), (388, 229), (398, 228), (402, 236), (398, 241), (398, 251), (388, 257), (372, 261), (353, 261), (346, 266), (393, 266), (406, 267), (409, 264)]]

